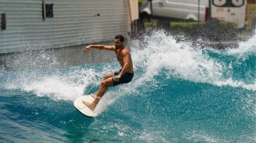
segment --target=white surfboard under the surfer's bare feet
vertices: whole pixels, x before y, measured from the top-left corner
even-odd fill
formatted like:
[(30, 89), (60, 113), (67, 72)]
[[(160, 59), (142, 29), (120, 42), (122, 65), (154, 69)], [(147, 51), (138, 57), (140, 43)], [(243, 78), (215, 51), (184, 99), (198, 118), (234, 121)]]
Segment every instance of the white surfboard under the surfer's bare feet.
[(75, 99), (74, 106), (83, 115), (86, 115), (87, 117), (90, 117), (90, 118), (96, 117), (97, 113), (90, 110), (90, 108), (88, 108), (87, 105), (83, 104), (82, 101), (87, 101), (89, 103), (92, 103), (92, 101), (94, 101), (94, 98), (92, 98), (92, 96), (90, 96), (90, 95), (80, 96), (80, 97)]

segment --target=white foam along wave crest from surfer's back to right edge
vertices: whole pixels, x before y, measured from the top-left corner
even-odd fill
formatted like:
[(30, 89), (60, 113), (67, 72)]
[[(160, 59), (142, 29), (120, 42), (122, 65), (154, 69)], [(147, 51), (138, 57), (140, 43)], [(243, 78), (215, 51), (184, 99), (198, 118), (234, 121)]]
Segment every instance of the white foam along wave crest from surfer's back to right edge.
[[(210, 57), (204, 50), (191, 47), (189, 42), (179, 42), (163, 31), (156, 31), (151, 36), (146, 36), (144, 47), (133, 49), (134, 64), (144, 69), (144, 74), (136, 81), (140, 86), (144, 81), (154, 80), (154, 76), (161, 73), (161, 69), (169, 69), (166, 75), (176, 76), (194, 82), (203, 82), (217, 86), (233, 86), (255, 90), (255, 84), (245, 84), (242, 81), (225, 79), (223, 74), (232, 71), (230, 65)], [(245, 47), (251, 52), (254, 50), (255, 38), (245, 42)], [(240, 44), (242, 46), (242, 44)], [(242, 49), (242, 48), (240, 48)], [(229, 50), (229, 52), (232, 50)], [(242, 50), (238, 50), (242, 54)]]

